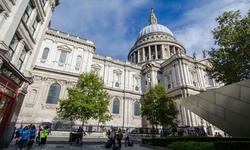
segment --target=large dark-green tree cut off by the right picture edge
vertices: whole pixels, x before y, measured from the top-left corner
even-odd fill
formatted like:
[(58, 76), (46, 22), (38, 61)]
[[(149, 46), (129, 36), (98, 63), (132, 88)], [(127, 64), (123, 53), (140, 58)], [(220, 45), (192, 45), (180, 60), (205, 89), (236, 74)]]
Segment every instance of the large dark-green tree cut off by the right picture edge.
[(240, 14), (239, 10), (224, 12), (212, 31), (218, 48), (209, 52), (212, 68), (207, 70), (226, 85), (250, 78), (250, 11), (243, 18)]

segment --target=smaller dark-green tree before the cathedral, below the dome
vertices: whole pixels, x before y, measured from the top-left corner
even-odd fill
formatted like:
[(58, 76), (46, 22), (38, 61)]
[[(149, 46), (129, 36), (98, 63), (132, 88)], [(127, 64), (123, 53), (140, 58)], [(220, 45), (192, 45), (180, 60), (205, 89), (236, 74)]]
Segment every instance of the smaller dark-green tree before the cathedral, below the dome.
[(161, 84), (152, 87), (141, 103), (141, 116), (146, 116), (150, 124), (153, 123), (156, 127), (157, 125), (177, 127), (178, 112), (174, 101), (168, 97), (165, 87)]

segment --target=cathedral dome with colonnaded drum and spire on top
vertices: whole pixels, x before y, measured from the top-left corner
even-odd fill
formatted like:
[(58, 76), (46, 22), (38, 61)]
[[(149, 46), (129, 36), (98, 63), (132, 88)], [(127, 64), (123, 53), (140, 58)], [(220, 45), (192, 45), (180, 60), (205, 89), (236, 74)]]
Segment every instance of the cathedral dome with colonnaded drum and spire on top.
[(148, 21), (149, 25), (140, 31), (134, 46), (128, 53), (130, 62), (143, 64), (148, 61), (157, 61), (161, 63), (174, 54), (186, 53), (174, 34), (166, 26), (157, 23), (153, 8), (151, 8)]

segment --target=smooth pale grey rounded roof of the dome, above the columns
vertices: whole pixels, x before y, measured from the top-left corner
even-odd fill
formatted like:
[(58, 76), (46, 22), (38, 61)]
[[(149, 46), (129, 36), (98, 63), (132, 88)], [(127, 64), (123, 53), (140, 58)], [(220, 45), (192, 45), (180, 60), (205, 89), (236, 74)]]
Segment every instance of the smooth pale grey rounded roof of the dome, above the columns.
[(174, 36), (173, 33), (166, 26), (163, 26), (161, 24), (150, 24), (140, 31), (138, 39), (142, 37), (143, 35), (146, 35), (152, 32), (164, 32), (164, 33), (168, 33)]

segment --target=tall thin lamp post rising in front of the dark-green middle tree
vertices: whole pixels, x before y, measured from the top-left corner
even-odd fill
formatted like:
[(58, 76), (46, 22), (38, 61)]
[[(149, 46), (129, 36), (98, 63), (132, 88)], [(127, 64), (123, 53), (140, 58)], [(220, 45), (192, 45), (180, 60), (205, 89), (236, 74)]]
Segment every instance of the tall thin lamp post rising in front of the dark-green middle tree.
[[(148, 68), (147, 77), (148, 77), (148, 83), (149, 83), (149, 89), (150, 89), (150, 95), (152, 96), (152, 67), (154, 65), (152, 63), (147, 63), (146, 68)], [(152, 137), (155, 137), (155, 129), (154, 129), (154, 100), (151, 99), (151, 109), (152, 109), (152, 117), (151, 117), (151, 123), (152, 123)]]

